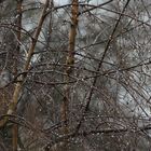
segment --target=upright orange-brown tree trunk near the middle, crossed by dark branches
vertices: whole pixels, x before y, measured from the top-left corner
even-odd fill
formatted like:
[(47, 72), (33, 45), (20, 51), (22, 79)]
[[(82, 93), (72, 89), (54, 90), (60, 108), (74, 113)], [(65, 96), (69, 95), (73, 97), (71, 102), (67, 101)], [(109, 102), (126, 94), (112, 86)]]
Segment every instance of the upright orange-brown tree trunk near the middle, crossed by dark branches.
[[(70, 30), (69, 30), (69, 47), (68, 54), (66, 58), (66, 76), (65, 82), (65, 97), (61, 104), (61, 121), (63, 121), (63, 134), (67, 135), (69, 133), (69, 100), (70, 100), (70, 92), (71, 85), (69, 84), (70, 76), (73, 74), (73, 65), (74, 65), (74, 46), (76, 46), (76, 36), (77, 36), (77, 28), (78, 28), (78, 15), (79, 15), (79, 1), (73, 0), (71, 4), (71, 23), (70, 23)], [(64, 149), (67, 151), (67, 140), (65, 140)]]

